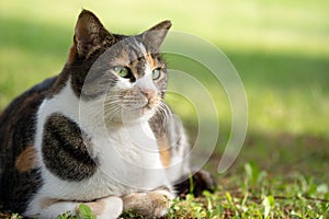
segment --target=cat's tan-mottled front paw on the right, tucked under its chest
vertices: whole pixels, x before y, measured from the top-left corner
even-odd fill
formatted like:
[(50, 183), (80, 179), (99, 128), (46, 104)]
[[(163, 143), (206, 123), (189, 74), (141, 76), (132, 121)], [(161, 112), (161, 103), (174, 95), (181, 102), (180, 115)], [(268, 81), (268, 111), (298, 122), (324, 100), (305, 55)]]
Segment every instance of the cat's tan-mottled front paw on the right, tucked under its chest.
[(168, 189), (157, 189), (148, 193), (133, 193), (123, 197), (124, 210), (133, 210), (146, 218), (167, 215), (174, 195)]

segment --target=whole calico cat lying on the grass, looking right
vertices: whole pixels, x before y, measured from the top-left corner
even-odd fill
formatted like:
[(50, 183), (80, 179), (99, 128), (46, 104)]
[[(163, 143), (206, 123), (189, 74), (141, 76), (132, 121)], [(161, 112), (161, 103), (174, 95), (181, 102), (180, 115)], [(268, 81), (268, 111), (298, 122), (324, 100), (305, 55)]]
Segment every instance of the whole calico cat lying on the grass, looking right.
[[(161, 217), (189, 193), (189, 143), (163, 101), (170, 26), (112, 34), (82, 10), (59, 76), (0, 115), (0, 211), (56, 218), (83, 203), (98, 218)], [(193, 180), (196, 195), (214, 186), (203, 171)]]

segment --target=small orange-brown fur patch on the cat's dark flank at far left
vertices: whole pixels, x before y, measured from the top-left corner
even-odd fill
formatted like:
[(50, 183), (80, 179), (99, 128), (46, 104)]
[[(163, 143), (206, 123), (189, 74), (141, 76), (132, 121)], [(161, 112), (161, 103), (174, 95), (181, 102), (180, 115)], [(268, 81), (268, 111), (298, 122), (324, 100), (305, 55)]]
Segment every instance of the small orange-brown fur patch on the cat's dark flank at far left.
[(15, 169), (22, 173), (37, 166), (36, 151), (33, 146), (26, 147), (15, 159)]

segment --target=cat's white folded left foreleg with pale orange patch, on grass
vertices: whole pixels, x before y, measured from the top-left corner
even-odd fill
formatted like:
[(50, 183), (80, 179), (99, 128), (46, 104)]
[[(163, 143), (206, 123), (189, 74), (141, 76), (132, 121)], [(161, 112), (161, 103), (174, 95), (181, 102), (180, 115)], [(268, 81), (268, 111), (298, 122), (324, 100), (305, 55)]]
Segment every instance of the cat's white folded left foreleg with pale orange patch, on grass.
[[(54, 201), (41, 210), (39, 218), (54, 219), (57, 218), (58, 215), (67, 211), (72, 216), (79, 215), (80, 204), (81, 203), (78, 201)], [(89, 206), (98, 219), (117, 218), (123, 210), (123, 201), (118, 197), (106, 197), (82, 204)]]

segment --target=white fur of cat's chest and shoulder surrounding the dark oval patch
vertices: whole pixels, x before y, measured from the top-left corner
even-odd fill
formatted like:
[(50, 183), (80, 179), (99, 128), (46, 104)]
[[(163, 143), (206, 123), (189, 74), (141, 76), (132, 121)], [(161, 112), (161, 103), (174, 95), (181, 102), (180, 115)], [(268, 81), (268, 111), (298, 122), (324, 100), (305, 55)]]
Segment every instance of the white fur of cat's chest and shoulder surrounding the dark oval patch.
[[(109, 124), (104, 124), (102, 113), (99, 116), (95, 116), (94, 112), (88, 114), (88, 107), (91, 107), (92, 104), (95, 106), (94, 110), (102, 111), (102, 108), (97, 108), (101, 106), (97, 101), (94, 103), (80, 102), (69, 82), (58, 94), (42, 103), (37, 112), (35, 148), (43, 185), (30, 203), (25, 216), (38, 215), (42, 218), (44, 216), (54, 218), (66, 210), (73, 211), (77, 206), (73, 200), (79, 203), (98, 198), (115, 198), (160, 186), (171, 189), (148, 122), (126, 127), (121, 124), (112, 124), (109, 127)], [(81, 106), (83, 106), (82, 110)], [(47, 117), (54, 113), (60, 113), (76, 122), (88, 136), (92, 137), (92, 154), (98, 157), (100, 166), (90, 178), (81, 182), (64, 181), (49, 172), (42, 162), (44, 124)], [(147, 148), (143, 148), (146, 146)], [(43, 203), (47, 199), (67, 201), (43, 207)], [(110, 200), (106, 205), (109, 205), (109, 209), (112, 209)], [(117, 205), (117, 201), (113, 203), (113, 206)], [(109, 217), (117, 217), (116, 211), (106, 214), (110, 214)]]

